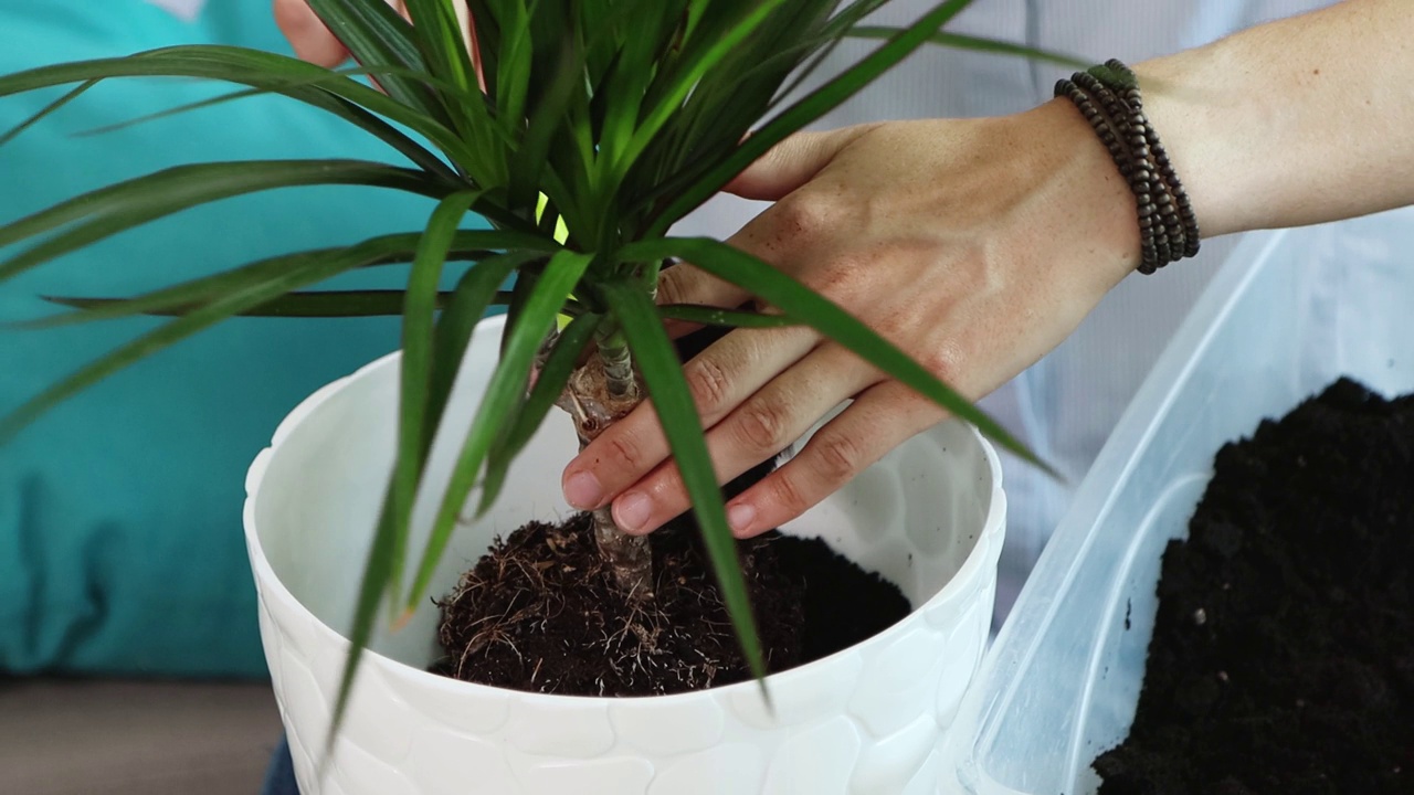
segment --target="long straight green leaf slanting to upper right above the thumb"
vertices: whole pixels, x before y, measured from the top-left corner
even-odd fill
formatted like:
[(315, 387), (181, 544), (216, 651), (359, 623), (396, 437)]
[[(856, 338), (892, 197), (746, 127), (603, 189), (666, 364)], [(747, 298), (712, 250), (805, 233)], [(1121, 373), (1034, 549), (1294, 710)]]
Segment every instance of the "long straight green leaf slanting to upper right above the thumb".
[(810, 92), (807, 96), (785, 109), (779, 116), (768, 122), (759, 132), (745, 139), (741, 146), (721, 161), (703, 168), (682, 192), (655, 215), (646, 238), (662, 236), (673, 222), (687, 215), (701, 202), (707, 201), (732, 177), (741, 174), (756, 158), (785, 140), (792, 133), (839, 108), (846, 99), (858, 93), (864, 86), (874, 82), (880, 75), (908, 57), (909, 52), (923, 45), (928, 38), (945, 23), (966, 8), (971, 0), (947, 0), (923, 14), (899, 35), (871, 52), (858, 64), (846, 69), (841, 75), (826, 85)]

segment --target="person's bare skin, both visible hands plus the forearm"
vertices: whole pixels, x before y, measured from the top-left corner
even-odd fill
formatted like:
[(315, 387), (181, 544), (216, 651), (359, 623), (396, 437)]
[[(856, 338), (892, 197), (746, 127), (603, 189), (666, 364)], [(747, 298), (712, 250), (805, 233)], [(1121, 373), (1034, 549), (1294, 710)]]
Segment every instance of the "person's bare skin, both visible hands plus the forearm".
[[(300, 7), (276, 0), (281, 27), (301, 57), (328, 62), (338, 54), (327, 31)], [(1408, 0), (1345, 0), (1134, 69), (1208, 238), (1414, 204)], [(727, 190), (775, 202), (732, 245), (822, 291), (970, 399), (1055, 348), (1140, 260), (1133, 194), (1065, 99), (1005, 117), (802, 133)], [(683, 266), (665, 270), (659, 300), (748, 297)], [(799, 516), (946, 419), (805, 328), (732, 331), (684, 373), (723, 482), (853, 399), (728, 504), (738, 536)], [(689, 506), (646, 403), (574, 458), (563, 487), (577, 508), (612, 504), (635, 533)]]

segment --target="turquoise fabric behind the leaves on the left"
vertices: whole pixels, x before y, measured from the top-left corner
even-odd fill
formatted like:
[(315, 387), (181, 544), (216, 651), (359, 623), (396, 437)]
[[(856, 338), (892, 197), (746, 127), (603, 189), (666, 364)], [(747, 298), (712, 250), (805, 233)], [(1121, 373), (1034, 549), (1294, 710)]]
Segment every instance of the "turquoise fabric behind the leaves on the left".
[[(0, 3), (0, 74), (199, 42), (286, 51), (267, 1), (214, 0), (194, 23), (141, 0)], [(281, 98), (74, 136), (226, 91), (189, 81), (95, 88), (0, 149), (0, 222), (182, 163), (399, 161), (362, 132)], [(0, 129), (52, 96), (0, 99)], [(430, 209), (427, 199), (346, 187), (225, 201), (4, 284), (0, 320), (52, 311), (40, 294), (133, 294), (262, 256), (416, 229)], [(331, 286), (392, 287), (403, 273)], [(157, 323), (0, 330), (0, 413)], [(240, 529), (246, 467), (305, 395), (396, 347), (392, 318), (236, 320), (0, 446), (0, 672), (263, 676)]]

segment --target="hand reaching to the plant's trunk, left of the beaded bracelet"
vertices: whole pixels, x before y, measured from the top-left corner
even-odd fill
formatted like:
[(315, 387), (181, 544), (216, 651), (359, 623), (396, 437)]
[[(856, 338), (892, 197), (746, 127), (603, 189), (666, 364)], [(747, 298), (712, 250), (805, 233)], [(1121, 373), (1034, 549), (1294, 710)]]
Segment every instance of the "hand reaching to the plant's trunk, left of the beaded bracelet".
[[(1068, 100), (1000, 119), (803, 133), (727, 190), (776, 201), (732, 245), (823, 293), (967, 399), (1059, 344), (1138, 262), (1133, 194)], [(690, 266), (665, 269), (659, 290), (663, 303), (749, 300)], [(718, 482), (853, 399), (797, 455), (728, 504), (741, 538), (796, 518), (945, 419), (807, 327), (735, 330), (684, 375)], [(575, 457), (563, 487), (575, 508), (612, 501), (615, 521), (632, 533), (689, 508), (650, 403)]]

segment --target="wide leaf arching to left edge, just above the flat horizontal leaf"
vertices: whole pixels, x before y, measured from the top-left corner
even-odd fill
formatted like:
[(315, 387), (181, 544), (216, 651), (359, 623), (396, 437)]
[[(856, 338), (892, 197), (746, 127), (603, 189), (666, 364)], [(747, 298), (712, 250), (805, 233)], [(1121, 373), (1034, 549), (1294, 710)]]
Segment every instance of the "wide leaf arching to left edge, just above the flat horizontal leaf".
[(178, 166), (90, 191), (0, 228), (0, 248), (85, 221), (0, 263), (0, 282), (148, 221), (201, 204), (300, 185), (372, 185), (440, 197), (421, 171), (359, 160), (250, 160)]

